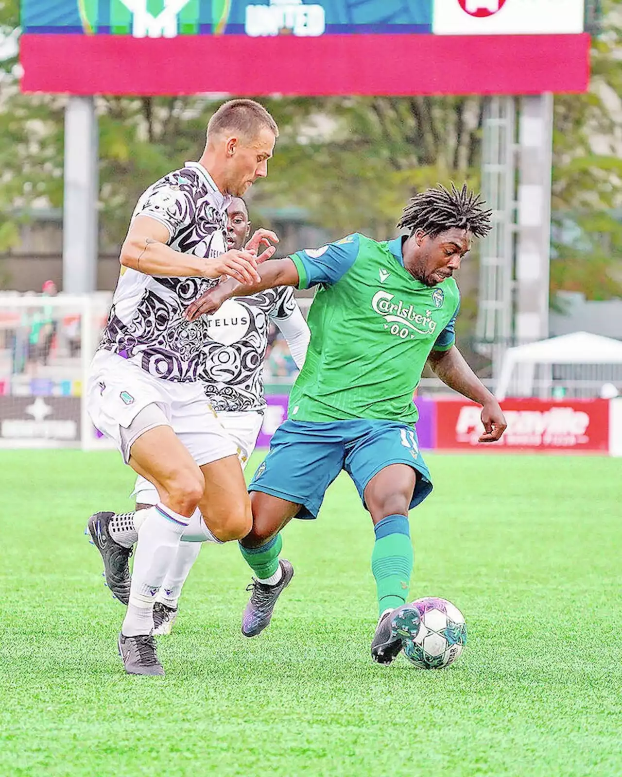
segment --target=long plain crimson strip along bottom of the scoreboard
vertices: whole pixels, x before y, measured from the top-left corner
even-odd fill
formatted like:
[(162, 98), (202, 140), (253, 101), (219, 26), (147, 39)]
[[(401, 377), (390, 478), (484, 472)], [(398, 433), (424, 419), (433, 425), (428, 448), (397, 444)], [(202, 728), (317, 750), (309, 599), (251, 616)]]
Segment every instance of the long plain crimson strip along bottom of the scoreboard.
[[(589, 35), (143, 37), (24, 33), (24, 92), (435, 95), (585, 92)], [(53, 66), (51, 66), (53, 63)]]

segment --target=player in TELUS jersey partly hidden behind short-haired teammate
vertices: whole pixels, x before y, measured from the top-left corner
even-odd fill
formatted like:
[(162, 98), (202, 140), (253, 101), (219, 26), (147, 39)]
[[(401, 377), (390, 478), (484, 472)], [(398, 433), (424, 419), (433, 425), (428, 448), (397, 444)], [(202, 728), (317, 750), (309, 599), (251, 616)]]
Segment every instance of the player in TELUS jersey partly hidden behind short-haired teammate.
[[(241, 249), (250, 233), (246, 203), (234, 197), (228, 208), (229, 228), (227, 248)], [(229, 300), (208, 321), (211, 340), (205, 346), (208, 361), (201, 372), (205, 393), (211, 406), (218, 411), (218, 420), (237, 445), (242, 469), (257, 443), (264, 419), (263, 368), (270, 322), (281, 330), (288, 343), (296, 367), (302, 368), (309, 345), (309, 327), (296, 304), (292, 287), (282, 286), (250, 297)], [(158, 492), (142, 476), (134, 490), (136, 510), (144, 510), (158, 502)], [(135, 539), (133, 524), (138, 531), (142, 512), (126, 516), (128, 544)], [(204, 524), (188, 528), (182, 535), (179, 549), (153, 608), (153, 633), (168, 634), (177, 617), (177, 602), (190, 569), (197, 560), (201, 542), (217, 542)]]

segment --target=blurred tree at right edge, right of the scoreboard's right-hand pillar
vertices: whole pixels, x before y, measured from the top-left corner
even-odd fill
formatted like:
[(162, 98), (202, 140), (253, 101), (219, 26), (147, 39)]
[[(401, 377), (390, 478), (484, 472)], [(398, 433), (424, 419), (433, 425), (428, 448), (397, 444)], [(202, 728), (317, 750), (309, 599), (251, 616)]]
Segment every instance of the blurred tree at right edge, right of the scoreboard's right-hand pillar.
[(622, 297), (622, 61), (619, 11), (603, 2), (584, 95), (555, 100), (550, 291)]

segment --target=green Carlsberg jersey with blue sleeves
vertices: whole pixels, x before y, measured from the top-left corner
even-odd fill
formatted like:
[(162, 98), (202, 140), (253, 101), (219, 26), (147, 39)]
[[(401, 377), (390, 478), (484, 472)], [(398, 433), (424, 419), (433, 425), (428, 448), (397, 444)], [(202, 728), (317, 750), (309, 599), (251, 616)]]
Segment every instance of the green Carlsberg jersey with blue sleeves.
[(318, 284), (311, 342), (289, 397), (300, 421), (357, 418), (414, 423), (414, 389), (432, 350), (449, 350), (460, 292), (404, 269), (402, 239), (348, 237), (292, 256), (299, 288)]

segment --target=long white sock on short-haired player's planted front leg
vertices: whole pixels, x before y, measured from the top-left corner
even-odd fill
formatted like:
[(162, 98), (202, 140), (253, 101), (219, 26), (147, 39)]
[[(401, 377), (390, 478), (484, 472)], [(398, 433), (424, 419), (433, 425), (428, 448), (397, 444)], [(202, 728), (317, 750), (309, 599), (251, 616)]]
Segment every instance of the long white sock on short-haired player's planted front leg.
[(169, 566), (175, 560), (183, 530), (190, 520), (162, 503), (141, 510), (145, 513), (134, 556), (130, 602), (121, 632), (125, 636), (150, 634), (153, 603)]

